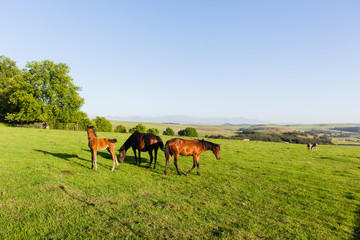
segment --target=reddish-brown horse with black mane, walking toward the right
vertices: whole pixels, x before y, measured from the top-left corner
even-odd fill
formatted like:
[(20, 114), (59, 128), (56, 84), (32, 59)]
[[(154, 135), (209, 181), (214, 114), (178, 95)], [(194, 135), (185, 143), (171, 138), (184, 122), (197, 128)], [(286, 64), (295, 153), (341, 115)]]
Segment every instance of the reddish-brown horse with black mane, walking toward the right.
[(208, 142), (205, 140), (185, 140), (181, 138), (174, 138), (166, 142), (165, 144), (165, 175), (167, 174), (167, 167), (169, 165), (171, 157), (174, 155), (174, 164), (178, 174), (181, 176), (181, 172), (179, 171), (177, 162), (179, 159), (179, 155), (182, 156), (193, 156), (194, 165), (187, 172), (190, 174), (191, 171), (197, 166), (197, 174), (201, 176), (199, 172), (199, 157), (204, 151), (211, 150), (216, 156), (217, 160), (220, 160), (220, 145), (214, 144), (212, 142)]

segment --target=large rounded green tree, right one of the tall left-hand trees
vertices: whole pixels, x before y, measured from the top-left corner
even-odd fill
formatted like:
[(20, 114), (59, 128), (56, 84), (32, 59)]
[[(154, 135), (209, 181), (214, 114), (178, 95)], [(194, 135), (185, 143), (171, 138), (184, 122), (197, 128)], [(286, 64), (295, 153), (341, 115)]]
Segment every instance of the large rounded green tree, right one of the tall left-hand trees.
[(70, 68), (52, 61), (28, 62), (23, 76), (25, 82), (32, 86), (32, 94), (39, 107), (38, 120), (46, 124), (75, 122), (76, 114), (84, 104), (78, 94), (80, 87), (73, 83)]

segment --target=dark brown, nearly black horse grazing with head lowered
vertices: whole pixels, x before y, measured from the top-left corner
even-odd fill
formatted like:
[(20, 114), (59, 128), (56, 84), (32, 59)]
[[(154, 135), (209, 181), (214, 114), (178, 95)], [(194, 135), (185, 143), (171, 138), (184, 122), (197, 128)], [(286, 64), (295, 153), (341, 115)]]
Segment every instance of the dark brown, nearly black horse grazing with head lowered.
[(156, 168), (156, 160), (157, 160), (157, 152), (160, 148), (162, 151), (164, 151), (164, 143), (161, 140), (159, 136), (156, 136), (152, 133), (139, 133), (134, 132), (131, 134), (131, 136), (126, 140), (126, 142), (121, 146), (119, 149), (119, 162), (124, 162), (126, 151), (129, 148), (132, 148), (135, 155), (135, 164), (137, 165), (137, 156), (136, 156), (136, 149), (139, 152), (139, 166), (141, 164), (141, 154), (140, 152), (148, 152), (150, 155), (150, 164), (148, 168), (151, 167), (152, 161), (154, 159), (153, 157), (153, 150), (155, 153), (155, 162), (154, 162), (154, 169)]

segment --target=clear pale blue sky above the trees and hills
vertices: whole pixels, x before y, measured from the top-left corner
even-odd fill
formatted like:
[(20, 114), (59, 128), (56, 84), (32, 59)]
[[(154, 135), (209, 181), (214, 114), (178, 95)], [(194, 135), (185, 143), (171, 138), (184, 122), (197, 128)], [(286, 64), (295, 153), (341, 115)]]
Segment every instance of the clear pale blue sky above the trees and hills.
[(70, 66), (92, 116), (360, 123), (360, 1), (0, 1), (0, 55)]

